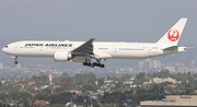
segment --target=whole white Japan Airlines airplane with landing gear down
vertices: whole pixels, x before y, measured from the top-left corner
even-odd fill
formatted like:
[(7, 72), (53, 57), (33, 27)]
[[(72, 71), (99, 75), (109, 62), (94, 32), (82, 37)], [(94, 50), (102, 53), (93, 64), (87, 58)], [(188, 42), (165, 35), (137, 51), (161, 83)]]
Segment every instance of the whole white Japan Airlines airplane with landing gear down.
[(95, 38), (86, 41), (22, 40), (7, 45), (2, 51), (12, 56), (15, 64), (19, 57), (49, 57), (55, 61), (72, 60), (86, 67), (104, 68), (101, 60), (148, 59), (186, 51), (186, 47), (177, 45), (186, 22), (187, 19), (182, 17), (157, 43), (94, 41)]

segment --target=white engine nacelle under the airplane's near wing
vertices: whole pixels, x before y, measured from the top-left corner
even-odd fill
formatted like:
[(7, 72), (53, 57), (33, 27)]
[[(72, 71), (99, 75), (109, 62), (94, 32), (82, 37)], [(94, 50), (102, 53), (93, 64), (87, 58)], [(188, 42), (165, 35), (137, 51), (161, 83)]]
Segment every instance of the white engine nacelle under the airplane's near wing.
[(54, 60), (55, 61), (69, 61), (72, 58), (72, 55), (69, 51), (55, 51)]

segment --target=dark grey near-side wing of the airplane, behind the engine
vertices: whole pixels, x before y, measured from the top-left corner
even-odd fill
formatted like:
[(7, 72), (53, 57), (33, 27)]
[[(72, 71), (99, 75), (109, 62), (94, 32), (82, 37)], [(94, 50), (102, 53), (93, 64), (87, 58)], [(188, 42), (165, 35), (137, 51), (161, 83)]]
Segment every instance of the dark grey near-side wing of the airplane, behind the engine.
[(72, 54), (76, 56), (91, 56), (93, 55), (93, 45), (95, 38), (91, 38), (74, 50), (72, 50)]

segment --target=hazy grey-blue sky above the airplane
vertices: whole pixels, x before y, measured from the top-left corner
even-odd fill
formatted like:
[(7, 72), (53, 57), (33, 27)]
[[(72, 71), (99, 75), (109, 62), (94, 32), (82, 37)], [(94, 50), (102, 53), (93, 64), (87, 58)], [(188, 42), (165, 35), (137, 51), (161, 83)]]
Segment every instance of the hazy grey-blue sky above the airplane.
[(157, 41), (181, 17), (195, 45), (197, 0), (0, 0), (0, 39)]

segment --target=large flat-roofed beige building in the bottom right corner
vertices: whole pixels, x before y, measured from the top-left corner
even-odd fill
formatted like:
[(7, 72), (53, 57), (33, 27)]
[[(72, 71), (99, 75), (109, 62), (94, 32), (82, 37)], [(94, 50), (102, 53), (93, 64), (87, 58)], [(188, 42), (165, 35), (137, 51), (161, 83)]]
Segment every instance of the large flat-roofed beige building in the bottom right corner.
[(162, 100), (140, 102), (141, 107), (197, 107), (197, 95), (167, 95)]

